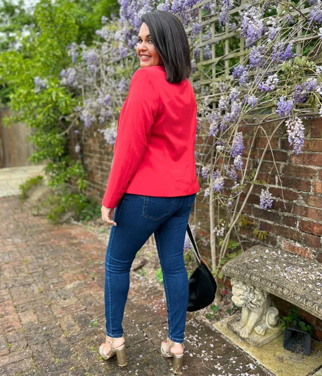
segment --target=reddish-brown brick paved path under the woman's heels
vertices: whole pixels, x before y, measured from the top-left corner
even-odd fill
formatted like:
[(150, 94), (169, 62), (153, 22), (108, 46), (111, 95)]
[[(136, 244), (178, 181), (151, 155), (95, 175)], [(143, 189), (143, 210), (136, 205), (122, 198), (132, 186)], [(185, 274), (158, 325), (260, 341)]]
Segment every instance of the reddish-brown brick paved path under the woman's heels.
[[(1, 376), (173, 374), (159, 350), (167, 335), (162, 290), (147, 290), (132, 274), (123, 321), (128, 364), (103, 361), (106, 244), (82, 226), (33, 217), (17, 197), (0, 199), (0, 219)], [(268, 374), (250, 369), (252, 359), (192, 314), (185, 346), (183, 375)]]

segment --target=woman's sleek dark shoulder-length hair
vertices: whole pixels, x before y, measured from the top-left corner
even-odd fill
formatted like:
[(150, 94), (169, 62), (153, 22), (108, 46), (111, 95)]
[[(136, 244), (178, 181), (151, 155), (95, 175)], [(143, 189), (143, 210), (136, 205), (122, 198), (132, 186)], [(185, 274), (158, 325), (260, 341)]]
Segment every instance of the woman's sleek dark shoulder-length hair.
[(189, 42), (179, 18), (170, 12), (152, 11), (142, 16), (143, 22), (162, 59), (167, 81), (176, 83), (188, 78), (191, 74)]

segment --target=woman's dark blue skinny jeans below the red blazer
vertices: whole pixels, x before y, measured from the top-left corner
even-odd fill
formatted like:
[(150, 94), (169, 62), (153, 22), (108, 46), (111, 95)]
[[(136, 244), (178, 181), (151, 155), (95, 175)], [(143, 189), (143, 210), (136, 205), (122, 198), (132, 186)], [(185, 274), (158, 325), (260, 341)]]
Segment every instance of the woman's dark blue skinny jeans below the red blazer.
[(105, 259), (106, 335), (122, 337), (130, 268), (136, 253), (154, 233), (166, 294), (169, 338), (183, 342), (188, 277), (183, 244), (196, 194), (154, 197), (124, 193), (115, 208)]

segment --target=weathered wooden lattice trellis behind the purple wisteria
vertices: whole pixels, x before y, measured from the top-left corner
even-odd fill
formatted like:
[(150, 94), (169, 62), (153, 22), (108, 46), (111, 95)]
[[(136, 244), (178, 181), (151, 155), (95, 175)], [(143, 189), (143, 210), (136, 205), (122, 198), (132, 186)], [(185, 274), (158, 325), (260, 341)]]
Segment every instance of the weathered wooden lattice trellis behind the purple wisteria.
[[(251, 47), (247, 47), (245, 45), (245, 38), (241, 35), (240, 24), (237, 24), (234, 27), (229, 26), (229, 22), (225, 24), (224, 31), (223, 27), (219, 24), (219, 13), (216, 15), (207, 14), (207, 12), (203, 11), (203, 7), (213, 0), (204, 0), (203, 2), (194, 6), (194, 11), (198, 12), (198, 23), (201, 26), (200, 34), (198, 36), (198, 41), (193, 41), (192, 36), (192, 27), (189, 25), (187, 27), (186, 32), (189, 36), (189, 44), (190, 46), (194, 46), (194, 49), (199, 49), (200, 54), (199, 57), (196, 58), (194, 54), (194, 50), (192, 50), (192, 59), (195, 60), (195, 64), (198, 68), (201, 68), (202, 73), (200, 75), (200, 80), (198, 81), (201, 85), (201, 88), (208, 86), (212, 82), (224, 81), (229, 82), (231, 80), (232, 71), (234, 66), (238, 64), (245, 65), (248, 62), (249, 52)], [(256, 5), (258, 2), (252, 2), (252, 5)], [(297, 10), (292, 12), (292, 18), (295, 18), (296, 24), (298, 27), (298, 32), (294, 36), (295, 41), (295, 49), (296, 55), (307, 55), (304, 51), (304, 45), (308, 42), (314, 41), (314, 39), (318, 39), (319, 37), (316, 35), (311, 35), (310, 31), (306, 28), (304, 32), (304, 24), (306, 22), (305, 17), (310, 16), (311, 11), (313, 10), (313, 6), (304, 8), (305, 2), (300, 0), (300, 4), (296, 5)], [(245, 0), (240, 0), (240, 5), (236, 6), (235, 8), (229, 11), (230, 19), (235, 21), (239, 20), (240, 22), (240, 12), (243, 11), (246, 7)], [(277, 8), (277, 13), (280, 11), (280, 3)], [(285, 13), (279, 16), (280, 22), (286, 18), (289, 14)], [(236, 17), (237, 16), (237, 17)], [(274, 17), (274, 16), (273, 16)], [(276, 17), (276, 16), (275, 16)], [(264, 19), (263, 25), (266, 25), (268, 18)], [(205, 34), (205, 30), (211, 30), (211, 37), (207, 40), (203, 40), (203, 36)], [(281, 36), (285, 33), (285, 29), (280, 30), (279, 34), (277, 35), (277, 40), (281, 39)], [(260, 38), (256, 43), (257, 46), (263, 43), (263, 38)], [(232, 49), (231, 41), (234, 40), (234, 49)], [(314, 41), (316, 43), (316, 47), (320, 45), (320, 41)], [(220, 45), (222, 48), (216, 49), (216, 45)], [(211, 58), (205, 59), (203, 54), (203, 48), (206, 46), (210, 46), (211, 48)], [(320, 51), (322, 49), (320, 48)], [(322, 61), (322, 52), (319, 53), (318, 58), (317, 54), (315, 54), (314, 61)], [(269, 68), (267, 71), (272, 72), (276, 68)], [(252, 74), (256, 74), (254, 71)], [(219, 95), (219, 93), (218, 93)], [(213, 98), (212, 101), (216, 101), (216, 98)], [(275, 108), (270, 110), (266, 110), (263, 112), (268, 113), (272, 112), (275, 113)], [(257, 115), (259, 113), (257, 112)]]

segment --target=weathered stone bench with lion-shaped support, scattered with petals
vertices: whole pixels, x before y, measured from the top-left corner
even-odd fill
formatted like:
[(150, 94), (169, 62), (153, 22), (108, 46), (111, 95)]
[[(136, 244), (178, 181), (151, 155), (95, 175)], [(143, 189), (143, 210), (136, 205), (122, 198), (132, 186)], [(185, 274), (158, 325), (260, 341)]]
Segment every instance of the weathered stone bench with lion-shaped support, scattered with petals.
[(254, 246), (228, 261), (222, 273), (231, 277), (232, 300), (242, 306), (241, 319), (227, 325), (252, 346), (260, 347), (281, 333), (269, 293), (322, 320), (322, 264), (317, 261)]

